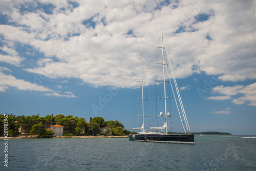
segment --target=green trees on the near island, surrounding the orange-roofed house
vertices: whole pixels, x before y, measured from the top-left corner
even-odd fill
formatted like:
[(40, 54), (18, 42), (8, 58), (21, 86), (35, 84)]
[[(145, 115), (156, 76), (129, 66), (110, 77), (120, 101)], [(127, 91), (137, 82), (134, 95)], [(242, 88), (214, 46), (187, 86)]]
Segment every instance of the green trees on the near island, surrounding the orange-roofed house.
[[(4, 135), (4, 119), (4, 115), (0, 115), (0, 135)], [(32, 116), (8, 114), (8, 135), (18, 135), (24, 132), (48, 137), (54, 133), (46, 129), (55, 124), (64, 126), (63, 133), (67, 136), (96, 136), (101, 133), (100, 127), (110, 127), (111, 130), (107, 130), (105, 135), (109, 135), (111, 131), (112, 135), (116, 136), (130, 134), (130, 131), (124, 130), (124, 126), (119, 121), (104, 121), (102, 117), (90, 118), (90, 122), (87, 123), (84, 118), (73, 117), (73, 115), (64, 116), (59, 114), (40, 117), (39, 114)]]

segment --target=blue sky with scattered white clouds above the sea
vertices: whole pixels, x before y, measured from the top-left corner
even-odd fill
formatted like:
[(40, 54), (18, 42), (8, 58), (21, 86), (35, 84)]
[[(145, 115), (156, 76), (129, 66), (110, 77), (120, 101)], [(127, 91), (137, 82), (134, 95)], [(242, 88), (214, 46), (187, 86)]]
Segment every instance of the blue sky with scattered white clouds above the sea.
[(255, 9), (231, 0), (1, 0), (0, 114), (99, 116), (132, 131), (140, 51), (150, 82), (162, 29), (191, 131), (256, 135)]

